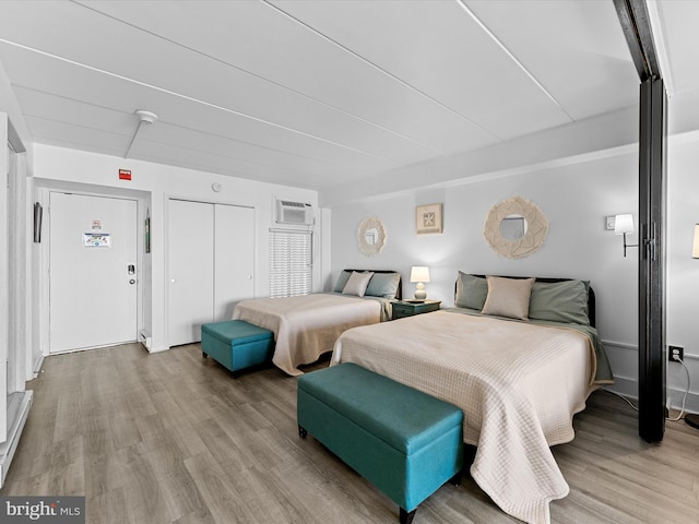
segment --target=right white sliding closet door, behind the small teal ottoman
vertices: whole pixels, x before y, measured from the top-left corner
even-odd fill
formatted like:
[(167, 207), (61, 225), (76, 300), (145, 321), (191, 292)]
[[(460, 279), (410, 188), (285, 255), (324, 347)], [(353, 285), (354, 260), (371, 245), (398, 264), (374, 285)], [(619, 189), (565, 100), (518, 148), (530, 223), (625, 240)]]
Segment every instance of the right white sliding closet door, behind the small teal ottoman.
[(254, 295), (254, 210), (215, 204), (214, 224), (214, 320), (220, 322)]

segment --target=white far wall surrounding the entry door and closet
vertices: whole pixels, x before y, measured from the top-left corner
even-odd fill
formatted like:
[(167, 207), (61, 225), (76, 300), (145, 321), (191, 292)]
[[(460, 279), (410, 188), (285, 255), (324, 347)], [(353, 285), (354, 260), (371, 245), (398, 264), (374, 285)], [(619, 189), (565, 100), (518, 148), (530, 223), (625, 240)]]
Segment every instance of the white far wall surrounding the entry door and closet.
[[(269, 296), (269, 228), (279, 227), (273, 224), (273, 202), (275, 196), (286, 200), (298, 200), (317, 206), (318, 195), (315, 191), (256, 182), (251, 180), (193, 171), (147, 162), (123, 159), (107, 155), (79, 152), (35, 145), (35, 186), (39, 188), (39, 198), (47, 204), (50, 189), (82, 191), (90, 194), (119, 194), (139, 200), (140, 223), (143, 224), (146, 207), (151, 216), (151, 253), (141, 253), (139, 274), (142, 284), (142, 314), (140, 329), (152, 336), (151, 350), (168, 347), (167, 342), (167, 275), (168, 265), (165, 257), (167, 238), (168, 201), (183, 199), (200, 202), (226, 203), (244, 205), (256, 210), (256, 296)], [(132, 179), (119, 180), (119, 169), (130, 169)], [(220, 192), (212, 190), (217, 182)], [(47, 205), (45, 205), (47, 207)], [(320, 230), (320, 215), (317, 212)], [(45, 229), (45, 233), (49, 233)], [(50, 234), (50, 233), (49, 233)], [(142, 231), (140, 233), (142, 235)], [(320, 235), (317, 236), (320, 238)], [(43, 239), (43, 260), (47, 260), (48, 242)], [(143, 248), (142, 238), (139, 241)], [(315, 269), (317, 290), (321, 288), (321, 264)], [(48, 278), (46, 263), (39, 270), (40, 279)], [(48, 286), (45, 286), (45, 289)], [(251, 297), (252, 298), (252, 297)], [(42, 297), (42, 344), (48, 347), (48, 297)]]

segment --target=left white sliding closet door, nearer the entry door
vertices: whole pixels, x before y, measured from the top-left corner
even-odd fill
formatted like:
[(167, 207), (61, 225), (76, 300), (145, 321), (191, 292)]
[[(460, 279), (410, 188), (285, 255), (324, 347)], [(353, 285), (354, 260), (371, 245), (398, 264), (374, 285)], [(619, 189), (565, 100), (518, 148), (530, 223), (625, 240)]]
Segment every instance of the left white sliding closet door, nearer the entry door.
[(213, 321), (214, 209), (170, 200), (168, 250), (170, 346), (201, 340), (201, 324)]

